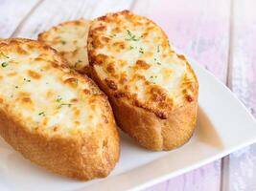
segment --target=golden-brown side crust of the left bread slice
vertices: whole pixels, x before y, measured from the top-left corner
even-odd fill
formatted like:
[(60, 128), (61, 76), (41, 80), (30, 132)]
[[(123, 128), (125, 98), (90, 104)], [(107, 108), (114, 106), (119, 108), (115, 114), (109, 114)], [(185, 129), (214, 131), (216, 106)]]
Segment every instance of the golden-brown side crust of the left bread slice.
[(92, 127), (83, 135), (69, 138), (30, 131), (0, 109), (0, 136), (26, 159), (59, 175), (78, 180), (104, 178), (120, 156), (120, 139), (108, 101), (105, 101), (105, 107), (110, 111), (105, 126)]

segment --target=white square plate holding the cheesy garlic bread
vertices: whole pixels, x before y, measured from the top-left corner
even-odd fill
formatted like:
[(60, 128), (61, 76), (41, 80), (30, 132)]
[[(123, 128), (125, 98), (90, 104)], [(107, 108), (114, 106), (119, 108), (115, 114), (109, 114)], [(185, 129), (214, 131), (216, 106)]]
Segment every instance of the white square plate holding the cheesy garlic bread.
[(58, 177), (37, 167), (0, 139), (0, 190), (138, 190), (255, 142), (254, 117), (214, 75), (195, 61), (191, 63), (199, 81), (198, 128), (184, 146), (169, 152), (151, 152), (121, 135), (121, 158), (111, 175), (83, 182)]

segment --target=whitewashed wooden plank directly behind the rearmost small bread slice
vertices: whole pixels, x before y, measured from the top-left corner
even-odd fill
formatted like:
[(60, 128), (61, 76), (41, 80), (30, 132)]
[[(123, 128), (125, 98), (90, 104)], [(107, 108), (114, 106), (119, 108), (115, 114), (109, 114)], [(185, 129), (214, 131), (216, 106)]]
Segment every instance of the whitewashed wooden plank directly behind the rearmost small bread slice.
[(133, 0), (44, 0), (14, 36), (36, 38), (39, 32), (66, 20), (93, 18), (109, 11), (129, 9)]

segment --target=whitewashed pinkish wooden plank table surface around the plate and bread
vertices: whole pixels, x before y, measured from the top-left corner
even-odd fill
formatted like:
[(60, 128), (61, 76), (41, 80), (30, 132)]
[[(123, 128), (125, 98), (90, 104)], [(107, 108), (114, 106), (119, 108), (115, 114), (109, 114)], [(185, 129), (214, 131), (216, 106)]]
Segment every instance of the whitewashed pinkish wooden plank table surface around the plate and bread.
[[(61, 21), (125, 9), (154, 20), (256, 117), (255, 0), (0, 0), (0, 37), (35, 38)], [(256, 144), (147, 190), (254, 191)]]

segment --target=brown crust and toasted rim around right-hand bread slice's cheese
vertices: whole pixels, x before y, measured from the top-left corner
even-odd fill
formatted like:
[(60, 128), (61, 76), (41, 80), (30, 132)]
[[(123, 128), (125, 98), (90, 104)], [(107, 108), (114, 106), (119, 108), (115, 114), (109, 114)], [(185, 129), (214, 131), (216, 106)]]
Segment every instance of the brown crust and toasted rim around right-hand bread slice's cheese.
[[(172, 101), (167, 100), (164, 102), (166, 105), (164, 112), (157, 107), (152, 110), (151, 104), (153, 104), (153, 102), (148, 105), (143, 105), (133, 96), (127, 96), (129, 93), (121, 92), (119, 90), (121, 84), (119, 84), (117, 80), (106, 80), (107, 78), (104, 80), (103, 76), (97, 73), (96, 67), (103, 65), (103, 63), (109, 65), (109, 63), (113, 61), (112, 58), (114, 56), (107, 56), (104, 53), (96, 53), (97, 50), (95, 49), (101, 49), (101, 47), (105, 45), (104, 40), (100, 41), (101, 37), (102, 39), (104, 38), (104, 35), (97, 36), (97, 32), (102, 32), (102, 30), (104, 31), (105, 27), (107, 27), (108, 23), (103, 24), (103, 22), (115, 22), (120, 15), (133, 18), (134, 14), (129, 11), (120, 11), (106, 14), (105, 16), (92, 21), (92, 29), (90, 29), (88, 37), (88, 57), (92, 67), (91, 77), (109, 97), (117, 124), (124, 132), (131, 138), (137, 140), (141, 146), (150, 150), (161, 151), (175, 149), (185, 144), (192, 137), (196, 128), (198, 110), (197, 76), (188, 64), (186, 58), (183, 55), (176, 54), (174, 50), (172, 50), (165, 32), (160, 30), (164, 39), (165, 48), (170, 50), (170, 55), (175, 54), (175, 56), (186, 63), (187, 73), (191, 74), (193, 76), (192, 78), (195, 79), (195, 81), (188, 85), (187, 89), (184, 89), (185, 94), (187, 94), (188, 91), (191, 91), (192, 94), (185, 95), (182, 104), (175, 106)], [(148, 18), (142, 18), (147, 20), (147, 22), (151, 22)], [(100, 24), (97, 23), (99, 24), (97, 25), (94, 22), (99, 22)], [(118, 20), (117, 22), (121, 23), (121, 20)], [(139, 22), (137, 21), (137, 23)], [(137, 25), (137, 23), (135, 25)], [(122, 63), (116, 64), (122, 65)], [(147, 70), (146, 64), (144, 65)], [(108, 68), (103, 69), (103, 71), (107, 71), (107, 69)], [(108, 73), (105, 75), (106, 77), (115, 76), (115, 73), (111, 74), (110, 70), (107, 72)]]

